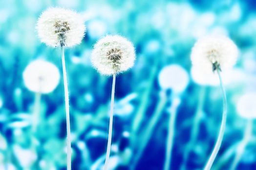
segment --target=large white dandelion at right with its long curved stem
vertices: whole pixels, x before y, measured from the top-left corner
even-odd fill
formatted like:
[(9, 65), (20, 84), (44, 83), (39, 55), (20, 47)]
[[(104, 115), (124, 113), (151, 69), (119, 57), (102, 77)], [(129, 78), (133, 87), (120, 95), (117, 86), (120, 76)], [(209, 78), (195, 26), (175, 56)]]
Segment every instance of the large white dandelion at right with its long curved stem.
[(202, 72), (217, 72), (220, 81), (220, 87), (223, 94), (223, 113), (219, 135), (215, 143), (213, 152), (205, 166), (205, 170), (210, 170), (213, 161), (219, 151), (223, 140), (226, 119), (227, 119), (227, 99), (226, 92), (222, 83), (220, 71), (232, 68), (235, 65), (238, 56), (238, 49), (235, 43), (225, 36), (207, 36), (199, 39), (192, 48), (192, 65)]

